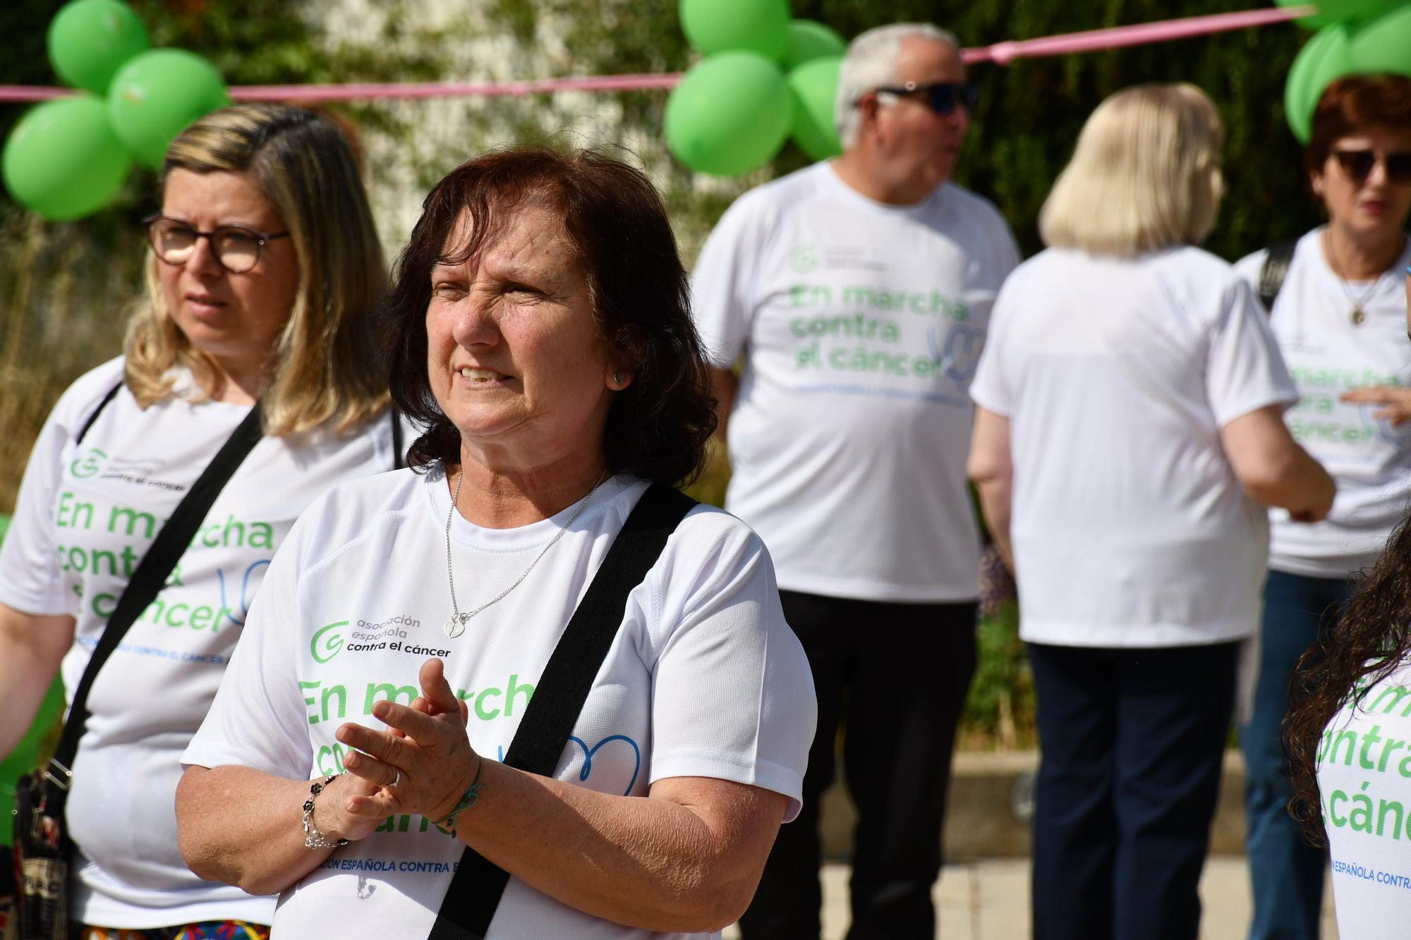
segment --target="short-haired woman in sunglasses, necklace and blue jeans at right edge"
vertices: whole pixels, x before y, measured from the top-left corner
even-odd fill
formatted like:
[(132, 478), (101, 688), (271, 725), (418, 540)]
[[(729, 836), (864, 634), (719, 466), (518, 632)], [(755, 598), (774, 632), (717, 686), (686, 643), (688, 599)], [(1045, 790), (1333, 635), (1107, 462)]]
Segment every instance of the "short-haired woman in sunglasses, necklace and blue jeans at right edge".
[[(1270, 515), (1254, 707), (1240, 728), (1252, 940), (1318, 936), (1326, 852), (1288, 816), (1278, 725), (1298, 658), (1331, 628), (1352, 577), (1376, 560), (1411, 497), (1411, 342), (1403, 271), (1411, 213), (1411, 78), (1353, 76), (1324, 92), (1304, 169), (1328, 223), (1237, 264), (1270, 302), (1301, 399), (1285, 419), (1338, 481), (1328, 518)], [(1288, 251), (1291, 250), (1291, 255)], [(1273, 258), (1273, 260), (1271, 260)]]

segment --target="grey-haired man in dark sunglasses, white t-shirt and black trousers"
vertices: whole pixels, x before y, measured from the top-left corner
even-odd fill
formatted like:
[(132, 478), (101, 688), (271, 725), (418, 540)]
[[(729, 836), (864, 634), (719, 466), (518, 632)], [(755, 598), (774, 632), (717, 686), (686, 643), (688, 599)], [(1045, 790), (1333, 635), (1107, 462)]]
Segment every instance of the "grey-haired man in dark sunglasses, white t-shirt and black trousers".
[(948, 182), (976, 103), (948, 32), (859, 35), (838, 80), (842, 155), (742, 196), (694, 271), (728, 418), (727, 508), (769, 546), (818, 694), (804, 809), (780, 830), (745, 937), (818, 936), (818, 797), (840, 727), (858, 809), (849, 937), (935, 932), (975, 668), (968, 388), (1019, 263), (995, 207)]

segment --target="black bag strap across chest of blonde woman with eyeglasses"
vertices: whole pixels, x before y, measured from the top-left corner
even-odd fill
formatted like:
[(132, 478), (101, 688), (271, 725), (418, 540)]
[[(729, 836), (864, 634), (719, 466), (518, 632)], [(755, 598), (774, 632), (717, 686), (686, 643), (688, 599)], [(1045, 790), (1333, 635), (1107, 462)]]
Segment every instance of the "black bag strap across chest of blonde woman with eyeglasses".
[(123, 597), (119, 598), (113, 615), (109, 617), (107, 627), (103, 628), (103, 635), (99, 638), (97, 646), (93, 648), (93, 655), (83, 669), (83, 677), (79, 679), (79, 685), (73, 692), (69, 717), (63, 721), (63, 735), (59, 738), (59, 745), (54, 749), (54, 757), (49, 759), (49, 766), (45, 771), (45, 778), (63, 793), (68, 793), (73, 755), (78, 754), (79, 738), (83, 737), (83, 728), (87, 724), (87, 696), (93, 687), (93, 680), (97, 677), (97, 670), (103, 668), (107, 658), (117, 649), (117, 644), (127, 634), (127, 628), (143, 615), (147, 605), (161, 593), (166, 584), (166, 577), (176, 567), (176, 562), (181, 560), (186, 546), (196, 536), (196, 531), (210, 511), (210, 505), (220, 495), (220, 491), (246, 459), (246, 454), (260, 442), (264, 433), (260, 426), (260, 402), (255, 402), (255, 406), (250, 409), (250, 414), (246, 415), (230, 438), (226, 439), (226, 443), (222, 445), (220, 450), (216, 452), (212, 462), (196, 477), (196, 483), (190, 486), (186, 495), (176, 504), (176, 510), (172, 511), (171, 518), (162, 525), (151, 548), (143, 555), (143, 560), (137, 563), (137, 570), (133, 572), (131, 580), (123, 590)]

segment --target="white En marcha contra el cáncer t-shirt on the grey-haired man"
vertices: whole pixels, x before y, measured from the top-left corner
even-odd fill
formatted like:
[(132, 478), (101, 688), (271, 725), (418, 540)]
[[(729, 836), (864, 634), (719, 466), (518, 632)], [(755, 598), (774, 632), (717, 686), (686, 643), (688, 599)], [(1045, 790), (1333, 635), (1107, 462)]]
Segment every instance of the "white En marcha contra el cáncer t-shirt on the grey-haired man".
[(721, 217), (691, 289), (713, 361), (745, 360), (725, 508), (765, 539), (780, 587), (978, 596), (967, 391), (1017, 263), (1003, 219), (965, 189), (889, 206), (828, 164)]

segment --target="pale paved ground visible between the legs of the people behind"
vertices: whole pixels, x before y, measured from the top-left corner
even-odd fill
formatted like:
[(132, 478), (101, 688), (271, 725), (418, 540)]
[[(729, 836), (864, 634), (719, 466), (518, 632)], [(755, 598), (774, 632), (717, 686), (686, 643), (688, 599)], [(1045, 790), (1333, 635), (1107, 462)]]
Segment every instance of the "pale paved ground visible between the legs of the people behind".
[[(848, 868), (828, 865), (823, 879), (823, 937), (841, 940), (848, 929)], [(1324, 903), (1324, 940), (1338, 940), (1331, 892)], [(1239, 855), (1212, 857), (1201, 879), (1202, 940), (1245, 940), (1249, 930), (1249, 871)], [(1023, 940), (1029, 936), (1029, 861), (993, 860), (947, 865), (935, 888), (937, 937), (944, 940)], [(725, 939), (737, 939), (734, 929)]]

